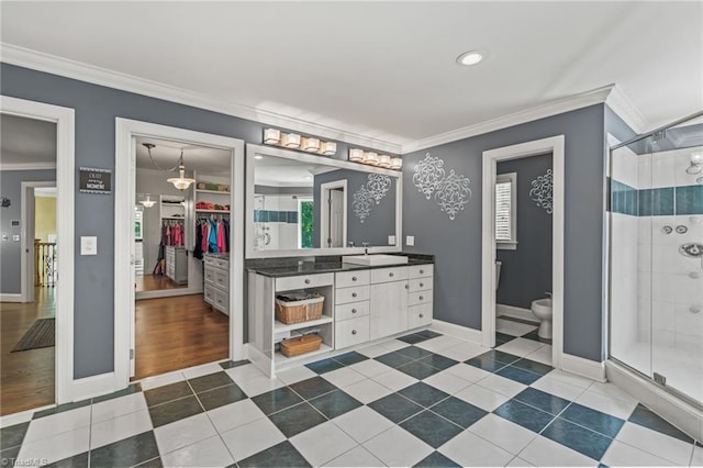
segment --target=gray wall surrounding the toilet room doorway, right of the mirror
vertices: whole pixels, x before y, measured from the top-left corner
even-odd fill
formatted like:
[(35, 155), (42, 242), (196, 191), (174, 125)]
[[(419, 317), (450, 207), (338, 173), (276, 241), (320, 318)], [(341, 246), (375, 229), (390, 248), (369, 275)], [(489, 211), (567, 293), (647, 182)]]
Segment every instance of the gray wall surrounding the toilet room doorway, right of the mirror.
[[(487, 149), (565, 135), (565, 341), (566, 353), (601, 360), (603, 339), (604, 104), (451, 142), (403, 157), (403, 234), (412, 253), (435, 255), (435, 316), (481, 328), (481, 155)], [(471, 181), (472, 198), (454, 221), (413, 185), (425, 153)]]

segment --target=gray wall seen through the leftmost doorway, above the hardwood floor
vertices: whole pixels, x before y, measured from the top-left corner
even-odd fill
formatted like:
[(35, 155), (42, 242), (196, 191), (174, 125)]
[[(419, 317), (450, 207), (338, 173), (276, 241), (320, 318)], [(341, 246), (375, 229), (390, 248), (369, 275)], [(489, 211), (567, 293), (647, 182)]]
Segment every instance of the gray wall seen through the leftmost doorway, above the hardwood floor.
[[(13, 242), (12, 235), (20, 234), (19, 227), (11, 227), (12, 220), (22, 220), (22, 182), (55, 181), (56, 171), (51, 170), (0, 170), (0, 192), (8, 197), (12, 204), (0, 208), (0, 232), (8, 235), (9, 241), (0, 241), (0, 293), (20, 294), (22, 282), (20, 279), (21, 243)], [(30, 242), (33, 242), (30, 239)]]

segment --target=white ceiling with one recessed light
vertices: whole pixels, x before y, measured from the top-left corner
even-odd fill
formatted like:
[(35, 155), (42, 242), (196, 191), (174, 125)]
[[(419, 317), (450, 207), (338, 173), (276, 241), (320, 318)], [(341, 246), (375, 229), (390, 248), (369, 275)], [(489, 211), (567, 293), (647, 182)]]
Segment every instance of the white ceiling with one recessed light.
[(648, 129), (703, 108), (700, 1), (0, 8), (5, 44), (400, 145), (610, 83)]

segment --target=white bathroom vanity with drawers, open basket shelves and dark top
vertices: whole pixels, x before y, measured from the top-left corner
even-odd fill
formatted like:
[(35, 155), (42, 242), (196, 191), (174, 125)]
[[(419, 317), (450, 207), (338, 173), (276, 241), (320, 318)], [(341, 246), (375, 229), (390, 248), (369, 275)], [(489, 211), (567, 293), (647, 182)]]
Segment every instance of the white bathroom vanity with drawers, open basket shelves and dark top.
[[(249, 359), (268, 376), (432, 323), (431, 256), (382, 267), (332, 258), (336, 260), (248, 268)], [(323, 296), (322, 317), (288, 325), (277, 321), (276, 297), (294, 293)], [(277, 350), (281, 339), (305, 333), (322, 337), (320, 349), (294, 357)]]

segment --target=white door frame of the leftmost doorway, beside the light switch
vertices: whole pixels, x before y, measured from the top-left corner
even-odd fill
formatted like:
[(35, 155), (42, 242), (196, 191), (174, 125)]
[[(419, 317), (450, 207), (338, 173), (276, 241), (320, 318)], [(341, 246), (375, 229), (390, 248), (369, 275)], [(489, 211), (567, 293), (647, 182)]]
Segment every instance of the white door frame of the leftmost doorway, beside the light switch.
[(74, 400), (74, 264), (75, 264), (75, 138), (76, 111), (70, 108), (0, 96), (4, 114), (56, 124), (57, 249), (62, 253), (62, 277), (56, 285), (56, 348), (54, 385), (57, 404)]

